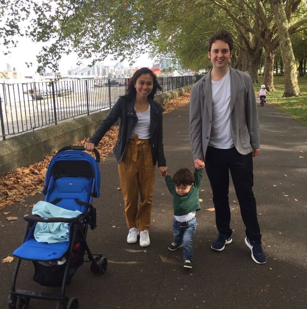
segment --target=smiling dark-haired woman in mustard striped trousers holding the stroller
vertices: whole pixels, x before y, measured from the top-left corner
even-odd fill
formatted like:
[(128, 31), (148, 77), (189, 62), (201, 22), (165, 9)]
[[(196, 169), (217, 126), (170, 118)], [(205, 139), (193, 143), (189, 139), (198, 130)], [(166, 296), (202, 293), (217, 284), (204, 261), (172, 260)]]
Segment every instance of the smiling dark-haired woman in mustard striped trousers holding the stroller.
[[(104, 134), (120, 117), (117, 142), (113, 148), (118, 162), (119, 178), (125, 200), (128, 243), (135, 243), (140, 233), (140, 245), (149, 246), (152, 192), (156, 163), (159, 175), (168, 175), (163, 150), (162, 113), (164, 109), (153, 101), (161, 87), (156, 75), (148, 68), (137, 70), (128, 84), (126, 95), (115, 103), (90, 140), (85, 150), (93, 151)], [(138, 198), (140, 192), (140, 206)]]

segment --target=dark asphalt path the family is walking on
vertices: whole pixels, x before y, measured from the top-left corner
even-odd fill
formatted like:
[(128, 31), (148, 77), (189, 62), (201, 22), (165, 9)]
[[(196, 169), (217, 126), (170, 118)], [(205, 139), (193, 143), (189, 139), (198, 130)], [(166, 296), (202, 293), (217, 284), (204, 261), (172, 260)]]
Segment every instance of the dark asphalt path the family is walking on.
[[(215, 213), (206, 210), (213, 207), (206, 175), (200, 192), (203, 210), (197, 213), (191, 271), (182, 267), (181, 249), (167, 249), (173, 240), (172, 198), (158, 174), (151, 245), (141, 248), (138, 243), (128, 244), (123, 198), (116, 190), (117, 163), (110, 155), (100, 165), (101, 197), (94, 201), (98, 227), (87, 236), (93, 252), (103, 252), (109, 265), (102, 277), (93, 275), (87, 264), (75, 274), (67, 295), (79, 299), (80, 309), (306, 308), (307, 127), (268, 104), (259, 106), (258, 112), (262, 150), (254, 159), (254, 193), (267, 263), (258, 265), (250, 257), (232, 184), (229, 200), (233, 242), (222, 252), (210, 249), (217, 231)], [(164, 116), (164, 147), (171, 175), (180, 167), (193, 168), (188, 123), (189, 106)], [(22, 204), (31, 205), (41, 199), (43, 196), (38, 194)], [(0, 217), (4, 225), (0, 228), (1, 258), (11, 255), (21, 242), (25, 209), (21, 204), (6, 207), (6, 211), (12, 211), (10, 215), (19, 216), (15, 222), (7, 222), (3, 214)], [(0, 265), (0, 308), (6, 308), (15, 262)], [(24, 262), (17, 288), (54, 292), (34, 283), (32, 277), (32, 262)], [(55, 303), (32, 299), (29, 308), (55, 308)]]

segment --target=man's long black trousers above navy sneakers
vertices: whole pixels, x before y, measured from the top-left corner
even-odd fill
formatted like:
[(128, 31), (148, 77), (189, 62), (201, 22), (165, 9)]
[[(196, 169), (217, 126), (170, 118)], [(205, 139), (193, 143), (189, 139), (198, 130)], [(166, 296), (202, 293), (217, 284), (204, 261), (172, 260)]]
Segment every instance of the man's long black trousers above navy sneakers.
[(219, 149), (208, 146), (205, 164), (212, 188), (215, 222), (219, 233), (232, 234), (228, 201), (230, 170), (246, 227), (246, 236), (251, 240), (260, 241), (256, 200), (252, 190), (254, 185), (252, 153), (241, 155), (235, 147)]

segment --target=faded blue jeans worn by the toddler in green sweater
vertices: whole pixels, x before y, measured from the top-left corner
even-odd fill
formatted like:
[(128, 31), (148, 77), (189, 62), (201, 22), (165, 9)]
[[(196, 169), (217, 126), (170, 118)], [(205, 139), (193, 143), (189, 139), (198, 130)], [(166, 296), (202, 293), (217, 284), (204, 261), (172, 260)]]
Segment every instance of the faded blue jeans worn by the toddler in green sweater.
[(195, 217), (186, 222), (173, 220), (174, 242), (182, 245), (183, 259), (193, 260), (193, 236), (196, 231)]

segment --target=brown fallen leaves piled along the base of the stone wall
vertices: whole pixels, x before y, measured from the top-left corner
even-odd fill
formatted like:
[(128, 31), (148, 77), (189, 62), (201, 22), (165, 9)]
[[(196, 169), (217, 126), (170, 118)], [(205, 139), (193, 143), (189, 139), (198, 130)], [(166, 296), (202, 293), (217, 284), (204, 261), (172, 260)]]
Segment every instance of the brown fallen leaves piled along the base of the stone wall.
[[(190, 93), (187, 92), (184, 95), (163, 104), (162, 106), (165, 109), (164, 113), (172, 112), (173, 110), (188, 104), (189, 101)], [(96, 147), (100, 153), (102, 162), (112, 151), (116, 143), (117, 134), (118, 126), (113, 126)], [(89, 138), (84, 138), (73, 145), (84, 145), (88, 139)], [(45, 175), (48, 164), (55, 154), (56, 152), (51, 156), (46, 156), (41, 162), (31, 164), (28, 167), (18, 167), (14, 171), (1, 176), (0, 209), (7, 205), (12, 205), (17, 201), (22, 200), (24, 197), (32, 196), (41, 192), (45, 185)]]

